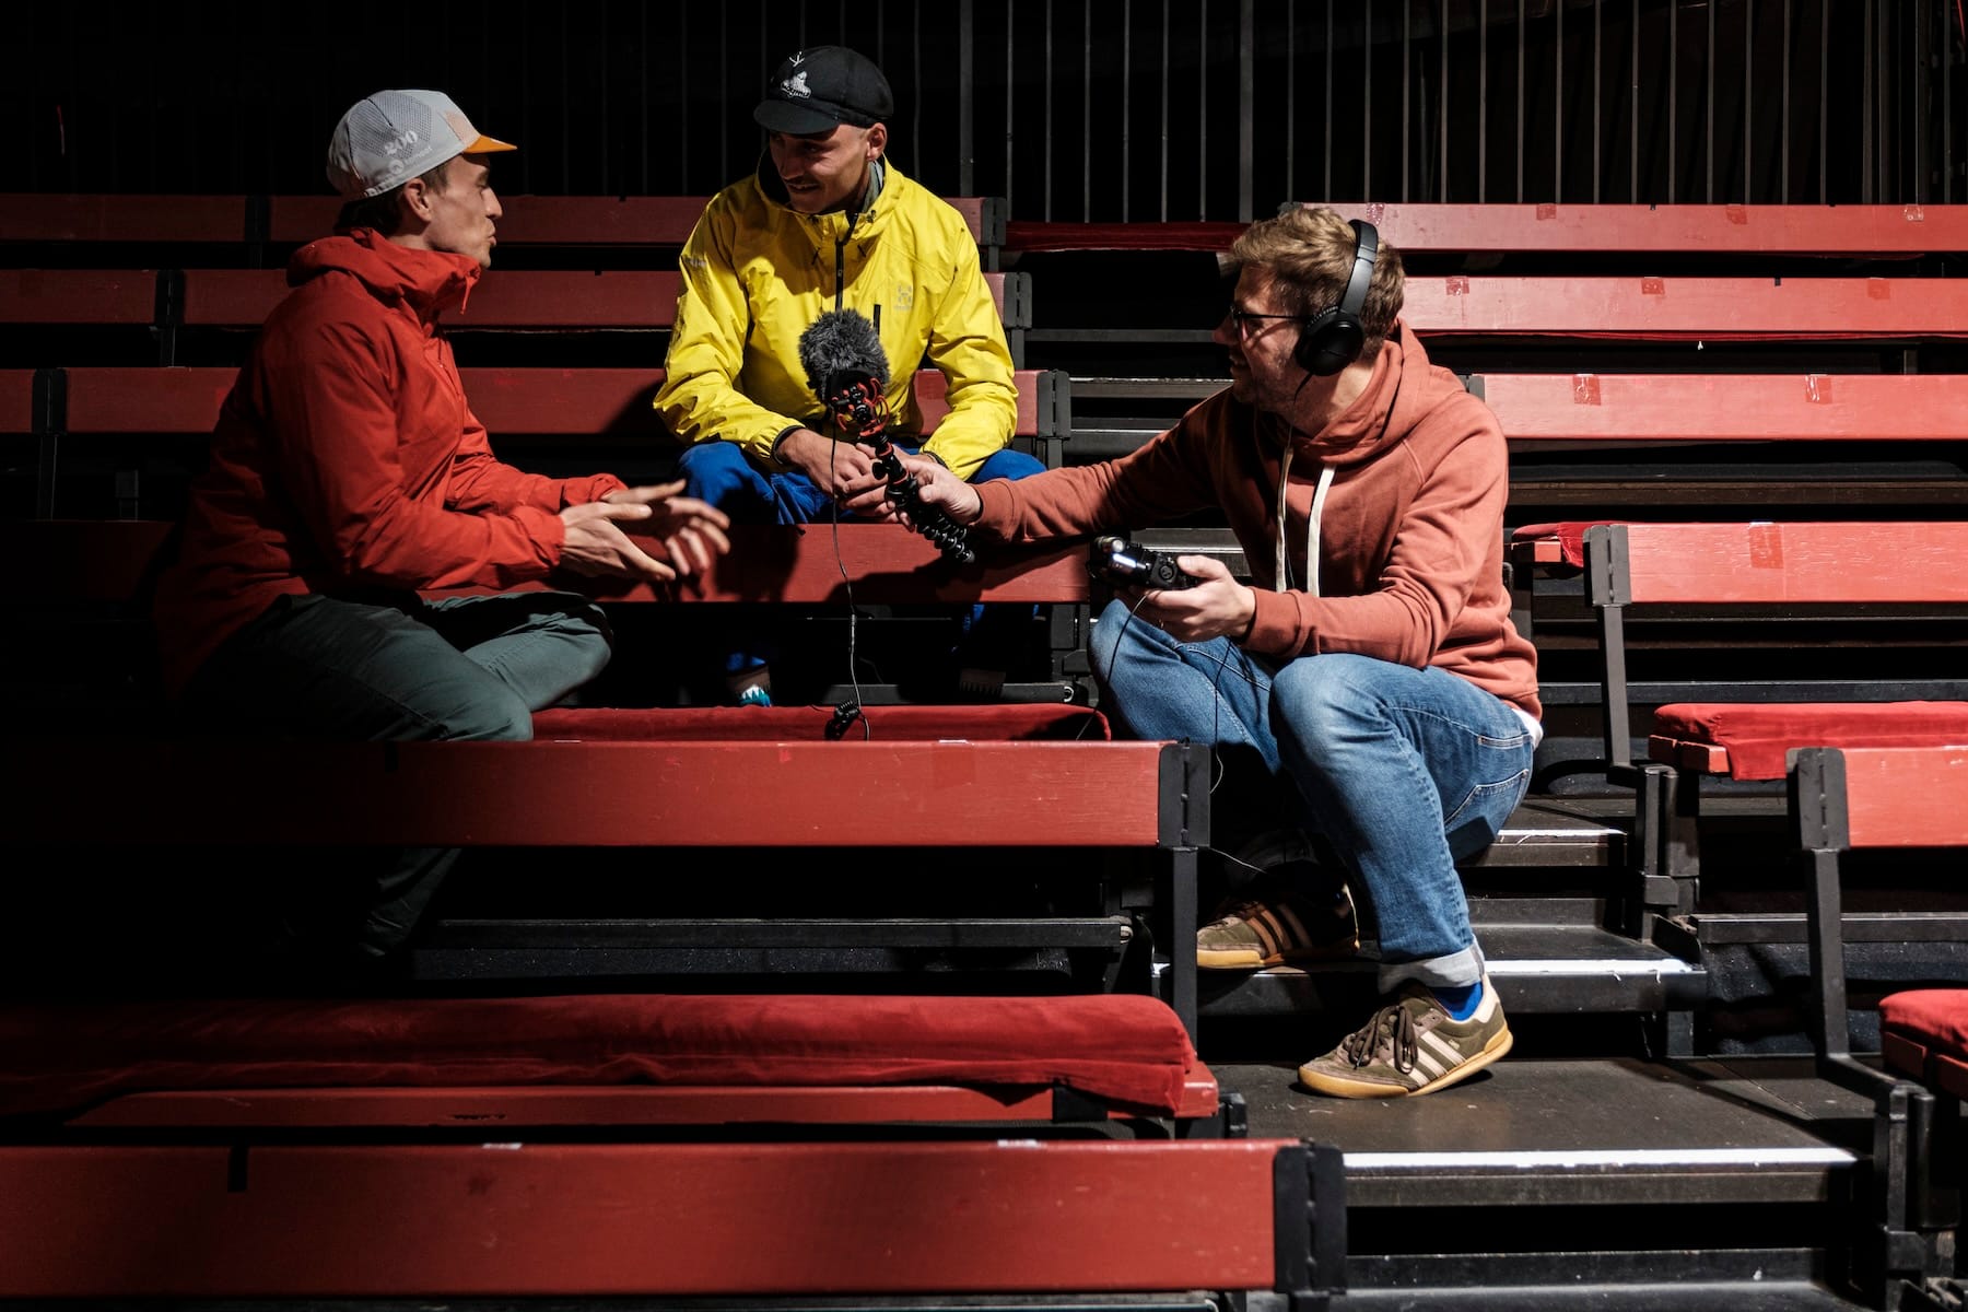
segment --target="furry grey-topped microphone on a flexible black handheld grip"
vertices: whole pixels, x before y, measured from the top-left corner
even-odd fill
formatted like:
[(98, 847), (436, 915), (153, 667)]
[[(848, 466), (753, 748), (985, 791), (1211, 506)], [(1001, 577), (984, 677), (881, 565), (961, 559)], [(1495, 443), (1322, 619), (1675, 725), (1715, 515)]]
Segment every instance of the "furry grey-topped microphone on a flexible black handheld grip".
[(917, 500), (915, 476), (901, 464), (888, 441), (888, 352), (874, 325), (854, 309), (821, 311), (799, 334), (799, 364), (807, 388), (821, 399), (834, 427), (848, 439), (874, 448), (874, 466), (888, 480), (888, 498), (909, 515), (915, 531), (943, 549), (943, 555), (970, 565), (964, 525), (941, 507)]

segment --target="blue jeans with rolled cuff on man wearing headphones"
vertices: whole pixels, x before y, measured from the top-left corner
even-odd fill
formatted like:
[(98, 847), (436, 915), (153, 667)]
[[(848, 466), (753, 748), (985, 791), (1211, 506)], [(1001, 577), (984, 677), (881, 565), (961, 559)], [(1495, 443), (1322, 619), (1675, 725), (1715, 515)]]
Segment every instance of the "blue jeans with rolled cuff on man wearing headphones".
[(1496, 840), (1531, 783), (1537, 744), (1507, 702), (1441, 669), (1346, 653), (1275, 665), (1226, 637), (1179, 643), (1120, 600), (1090, 655), (1126, 732), (1252, 749), (1295, 787), (1295, 818), (1366, 893), (1382, 991), (1482, 978), (1456, 862)]

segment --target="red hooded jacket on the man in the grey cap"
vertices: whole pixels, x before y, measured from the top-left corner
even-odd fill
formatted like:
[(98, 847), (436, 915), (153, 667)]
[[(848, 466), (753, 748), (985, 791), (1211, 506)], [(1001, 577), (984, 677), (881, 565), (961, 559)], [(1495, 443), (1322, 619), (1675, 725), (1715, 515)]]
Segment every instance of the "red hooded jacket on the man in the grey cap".
[(620, 478), (541, 478), (492, 456), (439, 334), (474, 260), (368, 228), (295, 252), (157, 586), (163, 681), (183, 688), (279, 596), (510, 588), (561, 559), (565, 506)]

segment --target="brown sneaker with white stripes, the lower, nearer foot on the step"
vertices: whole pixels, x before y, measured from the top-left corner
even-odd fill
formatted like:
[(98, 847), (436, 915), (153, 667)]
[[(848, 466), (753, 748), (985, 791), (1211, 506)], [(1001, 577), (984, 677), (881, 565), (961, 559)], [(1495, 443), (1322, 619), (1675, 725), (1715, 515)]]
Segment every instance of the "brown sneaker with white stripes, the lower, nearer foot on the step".
[(1466, 1021), (1409, 980), (1340, 1046), (1299, 1066), (1305, 1088), (1332, 1098), (1413, 1098), (1464, 1080), (1509, 1052), (1509, 1025), (1490, 976)]

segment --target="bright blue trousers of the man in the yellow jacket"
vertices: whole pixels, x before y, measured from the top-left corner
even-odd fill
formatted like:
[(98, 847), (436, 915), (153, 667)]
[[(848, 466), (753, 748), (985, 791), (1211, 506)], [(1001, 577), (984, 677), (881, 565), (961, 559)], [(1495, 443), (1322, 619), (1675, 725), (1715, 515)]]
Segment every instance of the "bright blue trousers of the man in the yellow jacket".
[[(917, 454), (921, 447), (893, 443), (895, 450)], [(1045, 470), (1045, 462), (1023, 450), (994, 450), (970, 482), (990, 482), (994, 478), (1025, 478)], [(710, 502), (732, 523), (817, 523), (834, 517), (834, 500), (827, 496), (811, 478), (799, 470), (768, 474), (746, 458), (738, 443), (707, 441), (693, 443), (677, 458), (677, 472), (685, 480), (685, 496)], [(968, 620), (960, 626), (962, 647), (976, 647), (974, 659), (980, 665), (1004, 661), (1004, 653), (994, 647), (1010, 647), (1019, 627), (1031, 618), (1031, 608), (1017, 608), (1017, 614), (1002, 606), (970, 608)], [(724, 673), (742, 675), (771, 663), (775, 643), (754, 637), (742, 649), (726, 653)]]

